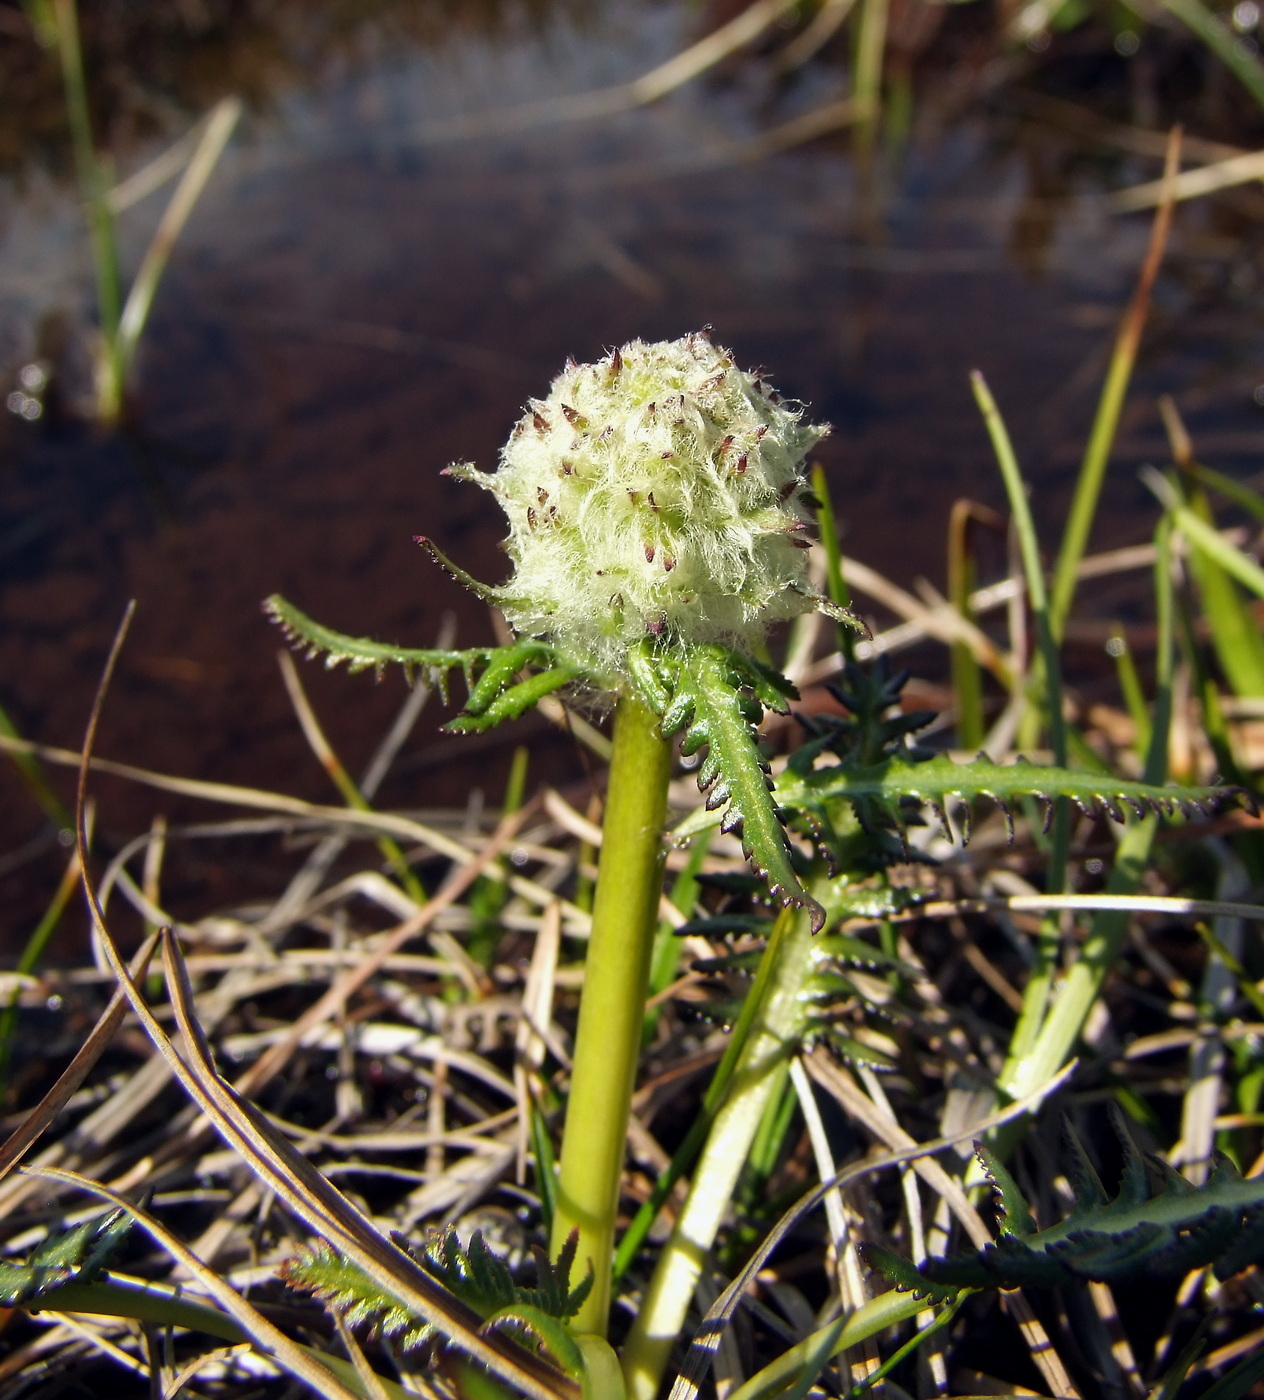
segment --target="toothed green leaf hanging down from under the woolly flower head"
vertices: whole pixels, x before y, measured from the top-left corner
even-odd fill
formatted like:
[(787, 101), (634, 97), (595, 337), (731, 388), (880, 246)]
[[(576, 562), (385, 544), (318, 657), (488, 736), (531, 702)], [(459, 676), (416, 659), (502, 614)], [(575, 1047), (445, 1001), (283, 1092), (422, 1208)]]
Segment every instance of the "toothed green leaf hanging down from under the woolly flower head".
[[(812, 931), (824, 927), (824, 910), (799, 883), (789, 846), (771, 795), (768, 766), (756, 746), (754, 725), (763, 707), (784, 706), (794, 689), (784, 678), (725, 647), (690, 647), (670, 665), (675, 685), (662, 718), (665, 735), (684, 729), (682, 753), (707, 745), (698, 769), (698, 788), (707, 794), (707, 811), (724, 806), (722, 832), (738, 832), (742, 851), (764, 876), (782, 904), (805, 909)], [(666, 689), (666, 687), (665, 687)]]

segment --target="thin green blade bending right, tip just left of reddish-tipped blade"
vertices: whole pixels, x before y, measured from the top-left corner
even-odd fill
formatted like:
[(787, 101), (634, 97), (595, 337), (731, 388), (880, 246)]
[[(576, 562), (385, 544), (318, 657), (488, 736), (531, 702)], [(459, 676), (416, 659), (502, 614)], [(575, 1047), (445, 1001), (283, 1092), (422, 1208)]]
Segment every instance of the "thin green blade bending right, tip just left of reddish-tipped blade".
[[(1040, 678), (1048, 711), (1050, 743), (1054, 763), (1067, 764), (1067, 721), (1062, 715), (1062, 666), (1058, 657), (1050, 623), (1048, 599), (1044, 592), (1044, 570), (1040, 563), (1040, 545), (1032, 521), (1026, 486), (1019, 470), (1018, 458), (1005, 421), (992, 399), (983, 375), (978, 371), (970, 377), (974, 398), (987, 424), (988, 437), (1005, 482), (1009, 511), (1018, 535), (1019, 553), (1023, 564), (1023, 578), (1027, 585), (1027, 599), (1036, 622), (1036, 645), (1040, 655)], [(1030, 692), (1029, 692), (1030, 694)], [(1069, 840), (1069, 815), (1065, 799), (1058, 799), (1053, 812), (1053, 843), (1048, 857), (1047, 886), (1051, 893), (1060, 893), (1067, 885), (1067, 846)], [(1009, 1046), (1009, 1060), (1022, 1058), (1034, 1043), (1044, 1019), (1048, 997), (1053, 990), (1054, 970), (1061, 946), (1061, 920), (1057, 914), (1047, 916), (1036, 939), (1036, 962), (1023, 991), (1023, 1009), (1019, 1014)]]

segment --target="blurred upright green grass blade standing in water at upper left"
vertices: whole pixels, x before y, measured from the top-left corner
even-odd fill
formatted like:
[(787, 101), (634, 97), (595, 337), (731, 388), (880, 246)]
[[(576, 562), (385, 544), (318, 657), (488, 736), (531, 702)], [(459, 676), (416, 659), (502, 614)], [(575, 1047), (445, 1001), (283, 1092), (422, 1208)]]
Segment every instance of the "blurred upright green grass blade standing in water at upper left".
[(101, 347), (97, 356), (97, 413), (104, 423), (118, 421), (123, 409), (123, 364), (119, 357), (119, 316), (123, 288), (119, 270), (118, 227), (109, 206), (109, 179), (92, 141), (88, 83), (78, 35), (76, 0), (52, 0), (57, 57), (66, 91), (66, 113), (74, 146), (74, 168), (88, 220), (92, 272), (97, 279), (97, 318)]

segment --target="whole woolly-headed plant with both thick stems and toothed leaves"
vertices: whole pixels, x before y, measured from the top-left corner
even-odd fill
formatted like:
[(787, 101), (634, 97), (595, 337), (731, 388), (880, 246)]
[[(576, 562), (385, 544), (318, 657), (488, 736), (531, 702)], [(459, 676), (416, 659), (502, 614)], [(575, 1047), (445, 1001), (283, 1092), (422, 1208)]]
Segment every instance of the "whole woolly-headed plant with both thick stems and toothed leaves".
[[(970, 805), (987, 797), (1009, 818), (1018, 799), (1051, 805), (1065, 798), (1086, 813), (1123, 820), (1124, 805), (1138, 816), (1190, 815), (1226, 797), (1030, 763), (1001, 766), (985, 755), (953, 763), (910, 742), (932, 715), (900, 706), (904, 678), (882, 662), (865, 671), (851, 661), (834, 690), (848, 717), (805, 720), (808, 741), (774, 788), (756, 724), (764, 708), (784, 711), (795, 689), (760, 659), (768, 629), (813, 609), (857, 622), (823, 598), (808, 573), (817, 503), (803, 466), (824, 431), (805, 423), (802, 407), (784, 402), (761, 375), (739, 370), (705, 332), (654, 344), (634, 340), (596, 364), (568, 364), (547, 398), (531, 402), (496, 472), (449, 468), (500, 503), (514, 573), (504, 584), (480, 584), (428, 540), (421, 543), (504, 612), (517, 633), (512, 643), (472, 651), (402, 650), (332, 633), (280, 598), (267, 603), (290, 637), (323, 654), (329, 665), (381, 671), (399, 662), (427, 672), (441, 689), (459, 668), (469, 696), (448, 724), (454, 731), (519, 715), (563, 686), (588, 704), (613, 708), (560, 1172), (549, 1183), (556, 1186), (550, 1253), (564, 1263), (563, 1275), (571, 1260), (581, 1274), (591, 1270), (591, 1285), (556, 1289), (566, 1308), (553, 1316), (559, 1329), (563, 1322), (570, 1329), (574, 1344), (553, 1350), (560, 1355), (580, 1347), (584, 1361), (575, 1365), (588, 1380), (594, 1366), (617, 1376), (619, 1364), (602, 1338), (677, 732), (686, 755), (707, 749), (698, 787), (711, 820), (740, 833), (747, 860), (785, 907), (733, 1036), (725, 1061), (732, 1065), (717, 1072), (715, 1102), (708, 1096), (705, 1147), (700, 1142), (700, 1155), (682, 1168), (691, 1170), (686, 1205), (659, 1250), (624, 1345), (630, 1400), (658, 1392), (700, 1260), (714, 1243), (788, 1058), (816, 1039), (838, 1047), (840, 1028), (816, 1012), (840, 988), (852, 994), (843, 967), (857, 948), (871, 959), (876, 953), (833, 932), (816, 935), (827, 910), (833, 924), (851, 914), (887, 917), (903, 907), (907, 892), (883, 872), (910, 857), (910, 816), (929, 808), (946, 829), (949, 804), (969, 815)], [(784, 820), (810, 841), (817, 860), (799, 861), (796, 869)], [(700, 829), (701, 819), (690, 823)], [(802, 879), (799, 871), (806, 871)], [(873, 1051), (858, 1043), (840, 1053), (869, 1056), (872, 1063)], [(649, 1203), (651, 1219), (656, 1208)], [(641, 1225), (648, 1221), (638, 1218), (624, 1240), (620, 1271), (644, 1239)], [(304, 1268), (300, 1261), (291, 1278), (304, 1282)], [(328, 1295), (328, 1280), (307, 1284)], [(391, 1302), (374, 1295), (365, 1306), (381, 1312)], [(854, 1317), (864, 1320), (859, 1312)], [(873, 1322), (880, 1326), (886, 1323)], [(566, 1369), (578, 1373), (568, 1364)], [(612, 1396), (623, 1393), (623, 1382), (610, 1385)]]

